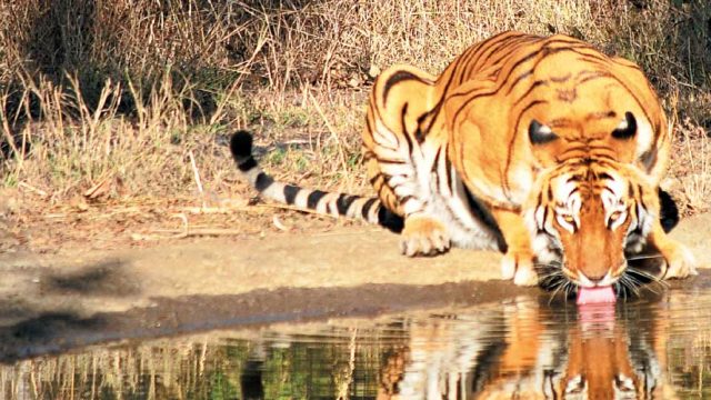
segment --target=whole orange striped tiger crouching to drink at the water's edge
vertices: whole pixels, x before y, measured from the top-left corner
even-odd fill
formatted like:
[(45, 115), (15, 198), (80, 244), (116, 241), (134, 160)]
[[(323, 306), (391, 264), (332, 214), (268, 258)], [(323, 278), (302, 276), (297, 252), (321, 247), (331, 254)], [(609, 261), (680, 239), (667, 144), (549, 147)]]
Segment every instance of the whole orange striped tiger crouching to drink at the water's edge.
[(650, 249), (663, 261), (659, 279), (695, 273), (662, 224), (671, 134), (633, 62), (563, 34), (507, 31), (437, 77), (402, 64), (374, 80), (362, 140), (377, 197), (274, 181), (249, 132), (230, 148), (264, 197), (380, 223), (400, 232), (403, 254), (500, 251), (502, 278), (518, 286), (540, 283), (537, 267), (552, 266), (592, 288), (618, 282), (628, 258)]

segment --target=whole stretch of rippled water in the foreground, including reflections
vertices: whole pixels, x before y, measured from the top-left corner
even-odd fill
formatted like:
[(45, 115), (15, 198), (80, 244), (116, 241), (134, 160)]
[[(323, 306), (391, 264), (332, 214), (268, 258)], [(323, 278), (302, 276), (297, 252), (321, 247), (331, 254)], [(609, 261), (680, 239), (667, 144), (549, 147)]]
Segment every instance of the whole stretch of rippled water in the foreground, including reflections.
[(113, 343), (0, 367), (6, 399), (705, 399), (711, 293), (523, 297)]

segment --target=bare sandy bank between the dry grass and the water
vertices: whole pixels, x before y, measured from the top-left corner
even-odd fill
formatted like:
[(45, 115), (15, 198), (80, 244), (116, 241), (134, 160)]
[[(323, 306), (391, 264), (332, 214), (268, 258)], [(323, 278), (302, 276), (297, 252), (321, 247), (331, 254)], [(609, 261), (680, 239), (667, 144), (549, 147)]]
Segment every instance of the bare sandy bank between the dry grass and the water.
[[(672, 234), (709, 267), (711, 214), (682, 221)], [(148, 249), (4, 253), (0, 360), (108, 340), (541, 292), (499, 280), (497, 253), (454, 249), (409, 259), (397, 243), (395, 234), (377, 228), (341, 227)], [(708, 276), (702, 271), (695, 281)]]

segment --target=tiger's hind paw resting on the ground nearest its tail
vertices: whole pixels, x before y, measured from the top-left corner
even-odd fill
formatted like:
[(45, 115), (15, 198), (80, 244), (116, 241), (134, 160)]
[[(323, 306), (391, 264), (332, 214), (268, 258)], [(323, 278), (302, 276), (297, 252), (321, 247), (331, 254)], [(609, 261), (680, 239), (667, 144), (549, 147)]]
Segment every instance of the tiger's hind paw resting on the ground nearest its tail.
[(400, 251), (408, 257), (443, 253), (451, 246), (444, 226), (430, 217), (408, 217), (401, 234)]

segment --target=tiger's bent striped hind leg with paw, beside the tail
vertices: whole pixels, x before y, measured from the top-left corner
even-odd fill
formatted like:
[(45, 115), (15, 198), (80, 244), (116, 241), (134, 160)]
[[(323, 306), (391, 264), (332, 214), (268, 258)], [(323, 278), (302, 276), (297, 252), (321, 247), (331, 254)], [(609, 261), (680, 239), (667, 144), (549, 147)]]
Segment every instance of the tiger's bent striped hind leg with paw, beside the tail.
[(373, 83), (363, 130), (370, 182), (382, 204), (403, 217), (400, 250), (410, 257), (434, 256), (451, 246), (431, 179), (433, 167), (443, 161), (438, 163), (435, 154), (447, 140), (432, 112), (439, 103), (435, 82), (413, 67), (383, 71)]

